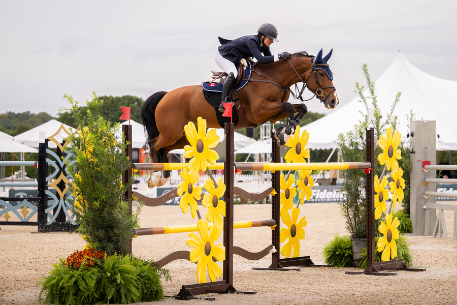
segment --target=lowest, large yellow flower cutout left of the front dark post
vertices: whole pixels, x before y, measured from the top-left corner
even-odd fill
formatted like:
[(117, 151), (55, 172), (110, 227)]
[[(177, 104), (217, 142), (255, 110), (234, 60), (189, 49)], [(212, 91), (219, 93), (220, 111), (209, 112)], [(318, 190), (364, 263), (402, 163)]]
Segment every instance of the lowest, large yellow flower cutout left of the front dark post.
[(222, 268), (213, 260), (223, 261), (225, 259), (225, 247), (221, 243), (214, 245), (214, 242), (220, 236), (220, 230), (217, 226), (212, 226), (208, 235), (208, 222), (199, 219), (197, 227), (200, 237), (195, 233), (189, 233), (187, 246), (193, 247), (190, 251), (190, 261), (197, 262), (197, 282), (206, 283), (206, 270), (211, 282), (216, 281), (222, 275)]

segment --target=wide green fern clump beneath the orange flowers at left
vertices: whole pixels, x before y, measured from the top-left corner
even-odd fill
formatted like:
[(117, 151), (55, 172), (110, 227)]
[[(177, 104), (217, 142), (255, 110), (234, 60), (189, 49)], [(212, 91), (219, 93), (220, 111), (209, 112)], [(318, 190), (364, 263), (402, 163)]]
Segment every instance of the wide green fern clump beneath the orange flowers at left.
[(60, 259), (59, 264), (53, 264), (50, 275), (38, 283), (42, 286), (40, 303), (126, 304), (158, 300), (164, 298), (160, 278), (170, 279), (167, 270), (131, 256), (105, 256), (94, 267), (82, 263), (76, 270), (66, 262)]

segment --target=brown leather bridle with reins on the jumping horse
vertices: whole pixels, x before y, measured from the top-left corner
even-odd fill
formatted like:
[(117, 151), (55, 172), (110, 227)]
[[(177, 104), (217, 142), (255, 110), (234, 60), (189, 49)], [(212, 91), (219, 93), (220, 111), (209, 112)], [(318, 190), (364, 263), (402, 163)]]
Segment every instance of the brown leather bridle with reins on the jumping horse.
[[(306, 52), (304, 52), (304, 51), (302, 51), (302, 53), (308, 55), (308, 53), (306, 53)], [(250, 78), (250, 79), (244, 79), (244, 80), (247, 80), (247, 81), (262, 81), (262, 82), (268, 82), (268, 83), (272, 83), (272, 84), (278, 86), (279, 88), (281, 88), (281, 90), (284, 91), (284, 94), (283, 94), (283, 96), (282, 96), (281, 102), (284, 101), (285, 96), (286, 96), (286, 93), (287, 93), (287, 92), (290, 92), (290, 94), (292, 95), (292, 97), (293, 97), (294, 99), (300, 100), (300, 101), (302, 101), (302, 102), (309, 101), (309, 100), (313, 99), (314, 97), (316, 97), (317, 99), (319, 99), (319, 101), (320, 101), (321, 103), (325, 103), (325, 101), (327, 101), (327, 99), (329, 98), (329, 96), (330, 96), (333, 92), (335, 92), (335, 90), (336, 90), (335, 86), (324, 86), (324, 87), (322, 87), (322, 86), (320, 85), (320, 83), (319, 83), (319, 79), (317, 78), (316, 69), (317, 69), (318, 67), (329, 67), (328, 64), (316, 64), (316, 58), (314, 58), (313, 60), (311, 60), (311, 63), (312, 63), (312, 65), (313, 65), (312, 70), (309, 72), (309, 74), (308, 74), (308, 76), (306, 77), (306, 79), (303, 80), (302, 77), (300, 76), (300, 74), (298, 73), (297, 69), (295, 69), (295, 67), (293, 67), (292, 63), (290, 62), (290, 60), (289, 60), (288, 58), (287, 58), (287, 62), (289, 63), (290, 67), (293, 69), (293, 71), (295, 72), (295, 74), (297, 74), (297, 76), (299, 77), (300, 82), (302, 82), (302, 88), (301, 88), (301, 89), (299, 89), (297, 83), (295, 83), (295, 92), (293, 92), (292, 89), (290, 89), (290, 87), (287, 87), (287, 88), (286, 88), (286, 87), (283, 87), (283, 86), (282, 86), (281, 84), (279, 84), (278, 82), (275, 82), (275, 81), (269, 79), (267, 76), (263, 75), (262, 73), (255, 71), (255, 70), (254, 70), (254, 67), (248, 68), (248, 69), (250, 69), (252, 72), (257, 73), (259, 76), (262, 76), (262, 77), (264, 77), (264, 78), (266, 78), (266, 79), (253, 79), (253, 78)], [(317, 84), (317, 86), (318, 86), (318, 88), (316, 89), (315, 92), (314, 92), (313, 90), (311, 90), (311, 89), (308, 87), (308, 85), (307, 85), (307, 81), (308, 81), (308, 79), (310, 78), (311, 73), (314, 74), (314, 80), (316, 81), (316, 84)], [(304, 100), (303, 97), (302, 97), (303, 92), (305, 91), (305, 88), (307, 88), (308, 90), (310, 90), (310, 92), (314, 95), (314, 96), (312, 96), (311, 98), (309, 98), (309, 99), (307, 99), (307, 100)], [(327, 96), (324, 96), (323, 90), (324, 90), (324, 89), (327, 89), (327, 88), (332, 88), (332, 90), (331, 90), (331, 92), (330, 92)], [(319, 97), (323, 97), (322, 100), (321, 100)]]

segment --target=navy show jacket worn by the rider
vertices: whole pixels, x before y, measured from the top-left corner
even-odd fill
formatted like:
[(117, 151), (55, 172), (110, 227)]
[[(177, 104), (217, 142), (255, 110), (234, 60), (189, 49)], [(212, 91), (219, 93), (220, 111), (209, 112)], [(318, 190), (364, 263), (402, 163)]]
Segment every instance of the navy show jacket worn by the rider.
[(218, 38), (221, 43), (221, 46), (218, 48), (219, 53), (235, 65), (243, 57), (254, 57), (259, 64), (268, 64), (275, 61), (270, 48), (265, 45), (260, 46), (260, 37), (257, 35), (247, 35), (235, 40)]

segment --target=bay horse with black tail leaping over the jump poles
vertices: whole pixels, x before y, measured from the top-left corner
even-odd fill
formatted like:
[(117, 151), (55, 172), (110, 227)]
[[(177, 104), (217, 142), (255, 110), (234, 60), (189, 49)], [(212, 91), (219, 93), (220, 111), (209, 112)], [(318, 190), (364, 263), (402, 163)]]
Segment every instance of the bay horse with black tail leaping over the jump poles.
[[(287, 100), (292, 95), (304, 102), (302, 94), (305, 88), (314, 94), (311, 98), (316, 97), (326, 108), (334, 109), (339, 99), (333, 85), (332, 71), (327, 64), (331, 55), (332, 50), (325, 56), (322, 56), (322, 49), (316, 56), (302, 51), (275, 63), (254, 65), (248, 85), (238, 91), (239, 101), (251, 126), (267, 121), (275, 123), (287, 117), (285, 133), (293, 133), (308, 109), (304, 103), (292, 105)], [(297, 85), (299, 82), (303, 84), (300, 90)], [(295, 93), (290, 89), (292, 85), (296, 86)], [(169, 151), (188, 144), (184, 126), (189, 121), (197, 124), (197, 118), (201, 116), (206, 119), (207, 128), (220, 128), (216, 111), (217, 108), (205, 100), (201, 85), (184, 86), (151, 95), (143, 104), (141, 119), (147, 133), (146, 141), (152, 162), (168, 163)], [(245, 126), (235, 126), (235, 129)], [(169, 178), (169, 171), (163, 174), (156, 171), (149, 179), (148, 186), (164, 185)]]

